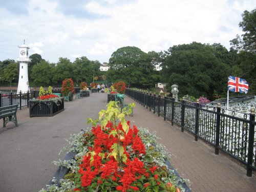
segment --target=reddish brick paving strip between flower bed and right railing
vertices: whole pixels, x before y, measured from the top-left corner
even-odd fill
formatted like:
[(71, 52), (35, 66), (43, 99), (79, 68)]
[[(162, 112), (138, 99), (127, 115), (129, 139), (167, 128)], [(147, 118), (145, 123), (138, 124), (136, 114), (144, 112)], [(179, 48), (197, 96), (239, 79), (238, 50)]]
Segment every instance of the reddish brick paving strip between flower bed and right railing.
[[(125, 103), (135, 102), (125, 97)], [(167, 150), (173, 154), (171, 163), (184, 179), (189, 179), (192, 191), (256, 191), (256, 177), (247, 177), (246, 169), (230, 160), (227, 155), (215, 155), (215, 148), (193, 135), (182, 133), (163, 117), (136, 103), (132, 125), (156, 131)], [(189, 184), (188, 184), (189, 185)]]

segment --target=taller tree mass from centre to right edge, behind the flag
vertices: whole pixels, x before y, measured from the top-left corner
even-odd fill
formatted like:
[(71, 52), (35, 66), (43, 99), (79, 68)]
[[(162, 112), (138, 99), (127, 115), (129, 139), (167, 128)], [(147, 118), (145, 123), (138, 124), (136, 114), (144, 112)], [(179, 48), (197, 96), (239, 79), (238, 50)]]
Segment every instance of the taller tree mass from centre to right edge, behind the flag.
[[(213, 99), (213, 96), (227, 95), (228, 76), (232, 75), (246, 79), (249, 94), (255, 94), (255, 9), (244, 11), (242, 17), (239, 26), (245, 34), (230, 41), (229, 51), (218, 43), (199, 42), (173, 46), (161, 53), (123, 47), (111, 55), (107, 77), (123, 80), (132, 87), (153, 87), (160, 79), (167, 83), (169, 92), (170, 86), (177, 84), (181, 96)], [(156, 63), (161, 63), (160, 75), (154, 71)]]

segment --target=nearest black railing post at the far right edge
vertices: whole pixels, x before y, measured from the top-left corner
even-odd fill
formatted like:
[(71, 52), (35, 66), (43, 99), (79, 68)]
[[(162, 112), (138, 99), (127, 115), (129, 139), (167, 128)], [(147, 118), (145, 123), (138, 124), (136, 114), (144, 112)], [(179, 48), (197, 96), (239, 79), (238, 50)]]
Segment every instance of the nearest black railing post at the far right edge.
[(248, 159), (247, 173), (248, 177), (252, 176), (252, 159), (253, 159), (253, 144), (254, 144), (254, 127), (255, 127), (255, 109), (251, 109), (249, 122), (249, 141), (248, 141)]

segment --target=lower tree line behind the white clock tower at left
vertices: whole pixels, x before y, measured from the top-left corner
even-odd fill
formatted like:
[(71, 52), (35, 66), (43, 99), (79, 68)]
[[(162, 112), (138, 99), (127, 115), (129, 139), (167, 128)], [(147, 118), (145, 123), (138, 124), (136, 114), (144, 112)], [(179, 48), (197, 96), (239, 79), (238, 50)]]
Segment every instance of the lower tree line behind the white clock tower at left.
[[(68, 58), (60, 57), (57, 63), (50, 63), (42, 59), (39, 54), (30, 56), (28, 63), (29, 81), (41, 86), (49, 84), (61, 85), (65, 78), (73, 78), (75, 82), (91, 82), (94, 77), (104, 76), (104, 72), (99, 71), (100, 62), (91, 61), (87, 57), (76, 58), (71, 62)], [(18, 82), (19, 65), (14, 60), (0, 61), (1, 83)], [(104, 80), (100, 79), (99, 80)]]

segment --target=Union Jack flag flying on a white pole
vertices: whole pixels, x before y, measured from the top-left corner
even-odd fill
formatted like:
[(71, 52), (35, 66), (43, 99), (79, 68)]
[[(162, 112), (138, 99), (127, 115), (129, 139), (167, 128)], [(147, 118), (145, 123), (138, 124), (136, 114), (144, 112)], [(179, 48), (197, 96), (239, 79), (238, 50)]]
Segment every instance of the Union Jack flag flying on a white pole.
[(248, 82), (239, 77), (229, 76), (227, 84), (228, 91), (232, 92), (247, 93), (249, 89)]

